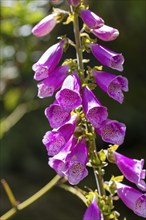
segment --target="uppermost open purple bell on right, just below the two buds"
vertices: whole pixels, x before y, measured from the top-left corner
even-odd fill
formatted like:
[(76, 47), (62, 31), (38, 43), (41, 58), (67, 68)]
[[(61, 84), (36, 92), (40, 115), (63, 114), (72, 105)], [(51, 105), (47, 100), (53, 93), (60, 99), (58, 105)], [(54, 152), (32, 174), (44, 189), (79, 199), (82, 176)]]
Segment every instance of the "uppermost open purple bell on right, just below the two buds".
[(90, 44), (91, 51), (96, 59), (105, 66), (123, 71), (124, 57), (99, 44)]

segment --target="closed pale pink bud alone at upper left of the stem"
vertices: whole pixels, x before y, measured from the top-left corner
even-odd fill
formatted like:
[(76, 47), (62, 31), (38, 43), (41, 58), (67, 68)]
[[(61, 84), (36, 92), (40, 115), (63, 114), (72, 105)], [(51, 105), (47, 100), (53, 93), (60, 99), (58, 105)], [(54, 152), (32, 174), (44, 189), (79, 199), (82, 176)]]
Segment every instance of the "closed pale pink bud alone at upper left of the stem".
[(50, 14), (33, 27), (32, 33), (37, 37), (43, 37), (53, 30), (56, 23), (56, 14)]

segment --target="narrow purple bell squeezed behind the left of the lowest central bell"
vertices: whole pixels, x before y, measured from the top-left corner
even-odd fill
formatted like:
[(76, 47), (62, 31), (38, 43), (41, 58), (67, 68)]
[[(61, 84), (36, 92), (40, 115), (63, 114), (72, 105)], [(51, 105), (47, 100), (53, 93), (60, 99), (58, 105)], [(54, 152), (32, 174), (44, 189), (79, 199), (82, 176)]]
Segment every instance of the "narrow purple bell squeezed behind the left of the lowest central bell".
[(76, 138), (72, 136), (65, 146), (54, 157), (49, 158), (49, 166), (52, 167), (60, 176), (64, 176), (66, 171), (66, 157), (76, 145)]

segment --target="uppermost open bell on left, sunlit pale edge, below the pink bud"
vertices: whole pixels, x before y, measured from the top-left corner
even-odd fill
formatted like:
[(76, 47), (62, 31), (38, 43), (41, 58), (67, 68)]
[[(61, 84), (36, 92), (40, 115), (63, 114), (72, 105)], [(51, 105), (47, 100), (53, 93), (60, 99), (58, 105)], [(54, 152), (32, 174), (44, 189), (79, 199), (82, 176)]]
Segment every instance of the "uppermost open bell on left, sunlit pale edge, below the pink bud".
[(61, 40), (59, 43), (51, 46), (32, 66), (32, 69), (35, 71), (35, 80), (42, 80), (47, 78), (49, 74), (55, 69), (62, 57), (64, 43), (65, 41)]

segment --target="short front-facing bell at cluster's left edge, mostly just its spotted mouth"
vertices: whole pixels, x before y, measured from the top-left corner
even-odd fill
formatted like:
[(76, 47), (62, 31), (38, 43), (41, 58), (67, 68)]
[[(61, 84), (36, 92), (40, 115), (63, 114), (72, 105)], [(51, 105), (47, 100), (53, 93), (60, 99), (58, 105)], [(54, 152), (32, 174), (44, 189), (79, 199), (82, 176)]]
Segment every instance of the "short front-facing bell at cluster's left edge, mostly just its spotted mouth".
[(65, 111), (57, 101), (45, 109), (45, 115), (52, 128), (59, 128), (70, 119), (70, 112)]

